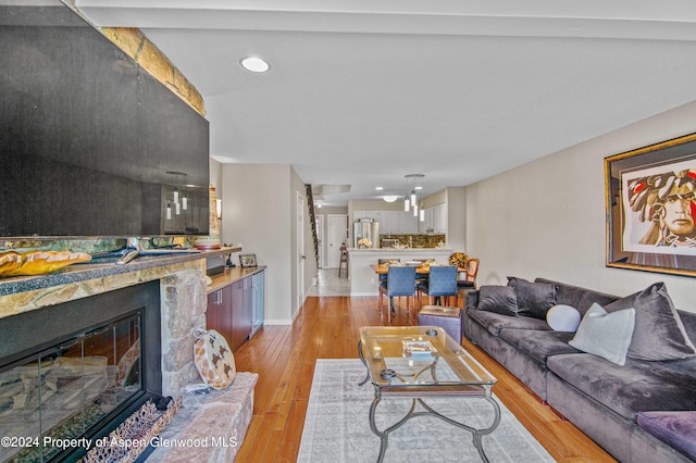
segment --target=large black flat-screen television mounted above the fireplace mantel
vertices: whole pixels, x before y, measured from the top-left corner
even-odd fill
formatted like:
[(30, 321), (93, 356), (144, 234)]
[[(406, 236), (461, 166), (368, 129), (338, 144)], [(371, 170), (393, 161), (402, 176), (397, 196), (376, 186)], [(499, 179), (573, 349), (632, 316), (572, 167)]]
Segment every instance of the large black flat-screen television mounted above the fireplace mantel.
[(208, 121), (46, 3), (0, 5), (0, 236), (208, 235)]

